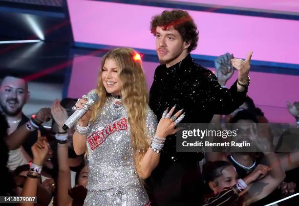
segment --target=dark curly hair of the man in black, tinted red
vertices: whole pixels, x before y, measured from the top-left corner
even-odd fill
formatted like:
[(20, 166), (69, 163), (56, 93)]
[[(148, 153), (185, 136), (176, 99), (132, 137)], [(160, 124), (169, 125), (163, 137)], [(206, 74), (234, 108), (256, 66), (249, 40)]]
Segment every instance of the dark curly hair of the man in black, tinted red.
[(197, 27), (187, 11), (174, 9), (172, 11), (163, 11), (161, 15), (153, 16), (150, 22), (150, 32), (155, 35), (157, 26), (163, 29), (173, 26), (182, 36), (184, 42), (190, 43), (188, 52), (194, 50), (197, 46), (198, 31)]

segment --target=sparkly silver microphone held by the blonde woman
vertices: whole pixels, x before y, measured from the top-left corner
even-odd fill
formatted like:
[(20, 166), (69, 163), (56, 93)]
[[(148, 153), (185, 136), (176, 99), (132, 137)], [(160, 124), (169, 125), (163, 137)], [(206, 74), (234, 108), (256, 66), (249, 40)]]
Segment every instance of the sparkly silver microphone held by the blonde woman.
[(88, 93), (86, 96), (87, 103), (85, 109), (76, 110), (68, 119), (64, 122), (63, 129), (66, 131), (68, 128), (74, 126), (77, 121), (87, 112), (87, 110), (99, 100), (99, 96), (96, 93)]

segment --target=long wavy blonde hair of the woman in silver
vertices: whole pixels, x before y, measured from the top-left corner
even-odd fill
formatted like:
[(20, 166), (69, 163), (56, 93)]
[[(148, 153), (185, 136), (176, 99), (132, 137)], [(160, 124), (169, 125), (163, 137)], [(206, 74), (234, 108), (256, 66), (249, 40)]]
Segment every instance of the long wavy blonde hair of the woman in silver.
[[(149, 148), (149, 142), (146, 135), (148, 134), (146, 129), (146, 80), (141, 60), (134, 59), (136, 54), (138, 53), (131, 48), (115, 48), (109, 50), (107, 54), (103, 56), (101, 70), (103, 69), (106, 59), (113, 59), (118, 66), (117, 73), (122, 82), (122, 102), (128, 111), (134, 161), (136, 169), (138, 170), (140, 161)], [(104, 87), (101, 71), (98, 77), (96, 93), (99, 95), (99, 101), (94, 105), (91, 121), (96, 119), (107, 97), (110, 96)]]

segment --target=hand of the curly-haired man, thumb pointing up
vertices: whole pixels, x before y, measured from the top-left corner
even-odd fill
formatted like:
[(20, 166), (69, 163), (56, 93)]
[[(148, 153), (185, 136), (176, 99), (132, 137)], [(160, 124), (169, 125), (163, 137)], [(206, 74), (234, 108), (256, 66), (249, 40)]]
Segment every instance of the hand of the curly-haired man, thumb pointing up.
[(247, 77), (250, 70), (250, 60), (252, 56), (253, 51), (250, 51), (247, 54), (247, 57), (245, 60), (242, 59), (232, 59), (232, 65), (235, 67), (235, 69), (238, 70), (238, 81), (242, 84), (247, 84)]

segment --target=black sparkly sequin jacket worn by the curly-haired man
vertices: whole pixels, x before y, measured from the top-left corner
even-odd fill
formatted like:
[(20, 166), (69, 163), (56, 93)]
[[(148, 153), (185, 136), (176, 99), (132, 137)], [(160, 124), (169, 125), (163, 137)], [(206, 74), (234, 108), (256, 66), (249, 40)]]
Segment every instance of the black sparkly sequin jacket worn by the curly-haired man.
[[(196, 64), (191, 55), (181, 62), (166, 68), (160, 65), (155, 70), (149, 92), (149, 106), (160, 120), (167, 107), (175, 104), (176, 111), (184, 108), (182, 122), (211, 121), (214, 114), (230, 114), (243, 104), (247, 90), (237, 92), (236, 81), (230, 89), (222, 88), (217, 77), (209, 69)], [(187, 154), (176, 153), (176, 139), (167, 137), (162, 156), (171, 160)], [(188, 158), (202, 159), (202, 154), (189, 154)], [(192, 157), (190, 157), (192, 156)], [(194, 156), (198, 156), (197, 158)]]

